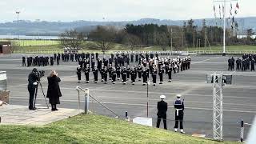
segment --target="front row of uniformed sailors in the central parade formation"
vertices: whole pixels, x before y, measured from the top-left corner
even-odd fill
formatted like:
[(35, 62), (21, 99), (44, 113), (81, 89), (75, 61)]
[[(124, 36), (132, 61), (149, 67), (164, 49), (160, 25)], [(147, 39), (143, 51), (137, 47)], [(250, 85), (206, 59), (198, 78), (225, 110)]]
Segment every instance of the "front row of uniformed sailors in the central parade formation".
[[(122, 79), (122, 83), (126, 84), (127, 80), (131, 79), (132, 84), (135, 84), (135, 80), (138, 76), (138, 81), (143, 82), (143, 86), (146, 85), (146, 82), (148, 81), (148, 78), (150, 78), (150, 74), (153, 78), (153, 86), (155, 86), (157, 82), (157, 75), (159, 76), (159, 84), (163, 83), (163, 74), (168, 74), (168, 82), (172, 81), (172, 71), (174, 73), (178, 72), (178, 66), (173, 66), (172, 64), (165, 66), (161, 65), (159, 68), (157, 68), (157, 65), (154, 65), (153, 67), (150, 67), (149, 65), (143, 66), (103, 66), (101, 69), (98, 69), (98, 66), (92, 67), (92, 73), (94, 74), (94, 82), (98, 82), (98, 72), (101, 74), (101, 81), (104, 83), (107, 83), (107, 78), (109, 75), (110, 80), (112, 80), (113, 84), (115, 84), (116, 79), (120, 80)], [(181, 70), (188, 70), (188, 67), (182, 66)], [(84, 69), (82, 69), (82, 66), (78, 65), (77, 67), (77, 74), (78, 74), (78, 82), (81, 82), (81, 75), (82, 71), (85, 73), (86, 76), (86, 83), (89, 83), (90, 78), (90, 66), (87, 65)]]

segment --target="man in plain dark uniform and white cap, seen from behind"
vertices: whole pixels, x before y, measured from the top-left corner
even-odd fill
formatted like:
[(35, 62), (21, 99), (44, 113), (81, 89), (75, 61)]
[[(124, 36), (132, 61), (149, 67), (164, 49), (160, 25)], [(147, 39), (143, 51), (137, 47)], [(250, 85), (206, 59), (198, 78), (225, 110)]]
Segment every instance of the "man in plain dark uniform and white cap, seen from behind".
[(166, 126), (166, 111), (167, 111), (167, 103), (164, 101), (166, 98), (165, 95), (160, 96), (161, 101), (158, 102), (158, 122), (157, 122), (157, 127), (159, 128), (161, 119), (163, 121), (164, 128), (167, 130)]

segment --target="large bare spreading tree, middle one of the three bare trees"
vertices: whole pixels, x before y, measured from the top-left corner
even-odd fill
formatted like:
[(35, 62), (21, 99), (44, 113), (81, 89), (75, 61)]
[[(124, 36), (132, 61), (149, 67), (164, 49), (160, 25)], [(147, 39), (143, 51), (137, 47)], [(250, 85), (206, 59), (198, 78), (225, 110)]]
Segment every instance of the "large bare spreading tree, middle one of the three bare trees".
[(102, 50), (103, 54), (113, 46), (116, 30), (114, 27), (98, 26), (89, 34), (89, 38), (95, 42), (96, 48)]

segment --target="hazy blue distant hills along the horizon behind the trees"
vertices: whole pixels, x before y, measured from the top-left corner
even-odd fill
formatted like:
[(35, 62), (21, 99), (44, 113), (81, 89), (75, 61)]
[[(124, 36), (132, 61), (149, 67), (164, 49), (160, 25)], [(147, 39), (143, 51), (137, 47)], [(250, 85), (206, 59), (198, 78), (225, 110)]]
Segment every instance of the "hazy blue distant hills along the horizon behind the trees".
[[(172, 26), (182, 26), (183, 22), (187, 20), (160, 20), (154, 18), (142, 18), (137, 21), (122, 21), (122, 22), (95, 22), (95, 21), (75, 21), (75, 22), (31, 22), (20, 20), (19, 22), (6, 22), (0, 23), (0, 35), (6, 34), (22, 34), (22, 35), (58, 35), (62, 33), (64, 30), (68, 29), (78, 29), (79, 31), (90, 32), (96, 26), (117, 26), (122, 28), (126, 26), (127, 23), (132, 23), (134, 25), (146, 24), (146, 23), (154, 23), (158, 25), (172, 25)], [(246, 31), (247, 29), (252, 28), (256, 31), (256, 17), (247, 17), (247, 18), (235, 18), (235, 21), (238, 22), (238, 29), (240, 33), (242, 30)], [(216, 22), (218, 26), (221, 26), (221, 20), (214, 18), (207, 18), (206, 25), (207, 26), (216, 26)], [(202, 19), (194, 19), (194, 24), (201, 27)], [(230, 24), (227, 24), (229, 27)]]

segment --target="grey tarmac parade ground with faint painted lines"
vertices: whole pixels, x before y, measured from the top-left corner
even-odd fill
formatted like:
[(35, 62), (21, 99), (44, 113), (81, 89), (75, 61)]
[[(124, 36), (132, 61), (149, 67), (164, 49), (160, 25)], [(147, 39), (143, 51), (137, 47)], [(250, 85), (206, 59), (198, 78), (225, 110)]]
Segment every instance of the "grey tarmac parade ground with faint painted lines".
[[(156, 126), (159, 96), (164, 94), (169, 106), (167, 128), (169, 130), (174, 129), (173, 102), (176, 94), (182, 94), (182, 99), (185, 101), (184, 130), (186, 133), (206, 134), (206, 137), (212, 138), (213, 86), (206, 83), (206, 74), (213, 74), (218, 71), (223, 74), (233, 75), (232, 85), (227, 85), (223, 89), (223, 138), (224, 140), (234, 141), (239, 139), (239, 123), (241, 119), (248, 123), (245, 126), (246, 137), (256, 114), (256, 72), (228, 71), (228, 58), (228, 56), (222, 57), (219, 55), (191, 56), (190, 70), (173, 74), (173, 82), (167, 82), (166, 74), (164, 76), (164, 84), (152, 86), (152, 82), (150, 82), (148, 88), (148, 111), (149, 117), (154, 118), (153, 125)], [(134, 64), (132, 63), (131, 65)], [(77, 109), (78, 91), (75, 88), (76, 86), (81, 86), (82, 88), (89, 88), (90, 94), (118, 114), (119, 118), (124, 118), (126, 111), (130, 118), (147, 116), (147, 86), (142, 86), (142, 82), (137, 81), (134, 86), (130, 82), (126, 85), (118, 82), (115, 85), (111, 82), (107, 84), (98, 82), (95, 84), (92, 82), (93, 75), (90, 73), (90, 83), (85, 82), (84, 74), (82, 74), (82, 82), (78, 83), (77, 66), (77, 62), (60, 62), (59, 66), (56, 66), (54, 62), (54, 66), (37, 67), (38, 70), (46, 71), (46, 76), (41, 80), (45, 94), (47, 92), (47, 75), (50, 70), (58, 72), (58, 76), (62, 80), (60, 82), (62, 98), (60, 99), (61, 105), (59, 107)], [(22, 54), (0, 55), (0, 70), (6, 71), (8, 78), (10, 104), (28, 105), (27, 77), (33, 68), (22, 67)], [(150, 77), (151, 80), (152, 78)], [(159, 78), (157, 78), (157, 81), (159, 82)], [(84, 106), (82, 94), (81, 97), (82, 108)], [(46, 106), (42, 90), (38, 91), (37, 106)], [(96, 114), (114, 117), (114, 114), (111, 114), (110, 111), (100, 106), (97, 102), (90, 102), (90, 110)]]

